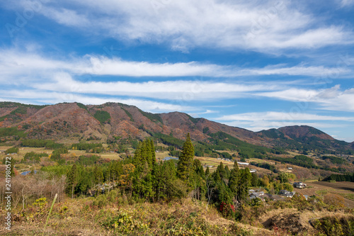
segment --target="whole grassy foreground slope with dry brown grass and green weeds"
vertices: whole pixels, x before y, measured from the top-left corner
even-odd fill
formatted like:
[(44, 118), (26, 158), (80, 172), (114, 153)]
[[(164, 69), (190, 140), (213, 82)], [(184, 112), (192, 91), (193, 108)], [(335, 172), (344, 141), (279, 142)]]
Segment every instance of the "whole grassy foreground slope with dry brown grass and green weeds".
[[(50, 204), (37, 201), (14, 214), (11, 232), (41, 235)], [(3, 215), (4, 210), (1, 212)], [(323, 227), (323, 220), (332, 220)], [(336, 220), (353, 224), (353, 209), (302, 198), (246, 206), (240, 222), (224, 218), (205, 201), (183, 198), (169, 203), (137, 203), (118, 190), (97, 198), (67, 198), (55, 204), (45, 235), (350, 235)], [(322, 221), (321, 221), (322, 220)], [(1, 224), (4, 219), (1, 218)], [(330, 228), (328, 228), (330, 227)], [(331, 234), (326, 234), (326, 230)]]

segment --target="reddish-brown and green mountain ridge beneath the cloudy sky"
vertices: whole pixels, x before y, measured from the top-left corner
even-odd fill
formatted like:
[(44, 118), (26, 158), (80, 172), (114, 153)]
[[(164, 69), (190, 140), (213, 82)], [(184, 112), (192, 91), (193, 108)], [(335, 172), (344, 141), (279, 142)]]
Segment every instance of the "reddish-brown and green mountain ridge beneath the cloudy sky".
[(321, 147), (330, 150), (354, 149), (354, 142), (335, 140), (310, 126), (287, 126), (253, 132), (193, 118), (186, 113), (148, 113), (122, 103), (84, 105), (57, 103), (48, 106), (0, 102), (0, 128), (13, 128), (28, 138), (51, 140), (107, 140), (110, 137), (143, 139), (154, 133), (183, 140), (190, 133), (193, 140), (207, 141), (211, 133), (223, 132), (254, 145), (268, 147)]

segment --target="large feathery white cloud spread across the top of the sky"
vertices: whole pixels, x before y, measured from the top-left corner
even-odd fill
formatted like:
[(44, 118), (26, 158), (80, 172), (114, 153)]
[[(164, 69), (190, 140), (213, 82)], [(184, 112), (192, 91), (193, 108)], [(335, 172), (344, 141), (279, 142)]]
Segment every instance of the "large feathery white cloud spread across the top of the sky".
[[(343, 4), (351, 4), (343, 0)], [(43, 3), (39, 13), (99, 37), (193, 47), (262, 52), (353, 42), (342, 26), (324, 26), (291, 1), (102, 0)], [(89, 27), (87, 27), (89, 26)]]

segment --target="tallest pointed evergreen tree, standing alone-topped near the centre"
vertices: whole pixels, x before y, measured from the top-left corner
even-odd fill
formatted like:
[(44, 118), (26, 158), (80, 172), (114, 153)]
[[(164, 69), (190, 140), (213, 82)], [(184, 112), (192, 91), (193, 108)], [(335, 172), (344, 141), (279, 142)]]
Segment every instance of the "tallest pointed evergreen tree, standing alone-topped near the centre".
[(190, 135), (187, 134), (185, 138), (185, 142), (182, 147), (181, 157), (179, 157), (177, 169), (178, 169), (178, 176), (186, 180), (190, 176), (190, 171), (193, 165), (193, 158), (194, 158), (194, 147), (192, 142), (190, 141)]

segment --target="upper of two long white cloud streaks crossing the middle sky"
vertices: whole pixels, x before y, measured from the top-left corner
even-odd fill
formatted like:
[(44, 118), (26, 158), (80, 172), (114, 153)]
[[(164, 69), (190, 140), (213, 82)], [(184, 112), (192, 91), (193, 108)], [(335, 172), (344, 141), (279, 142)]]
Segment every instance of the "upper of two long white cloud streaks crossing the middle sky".
[[(31, 47), (33, 48), (33, 47)], [(16, 49), (0, 50), (0, 74), (6, 80), (11, 76), (31, 74), (45, 77), (52, 72), (76, 74), (113, 75), (125, 77), (246, 77), (262, 75), (304, 75), (320, 77), (323, 74), (338, 74), (346, 77), (352, 70), (346, 67), (297, 66), (275, 64), (261, 68), (241, 68), (234, 65), (206, 64), (200, 62), (151, 63), (126, 61), (117, 57), (96, 55), (84, 57), (50, 58), (36, 52)]]

